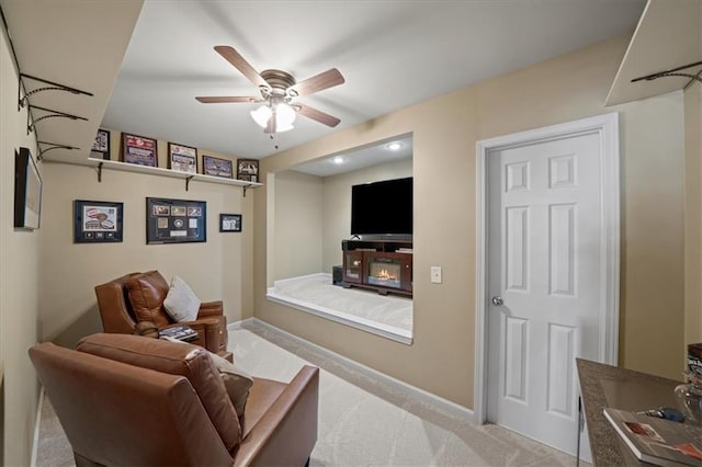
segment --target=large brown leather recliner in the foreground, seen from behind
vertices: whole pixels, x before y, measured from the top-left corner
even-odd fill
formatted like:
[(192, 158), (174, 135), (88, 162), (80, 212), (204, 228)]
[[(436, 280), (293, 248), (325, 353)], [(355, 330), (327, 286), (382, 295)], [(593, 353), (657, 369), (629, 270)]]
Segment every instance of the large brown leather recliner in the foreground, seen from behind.
[(93, 334), (29, 351), (77, 466), (303, 466), (317, 441), (319, 369), (253, 378), (237, 415), (201, 348)]

